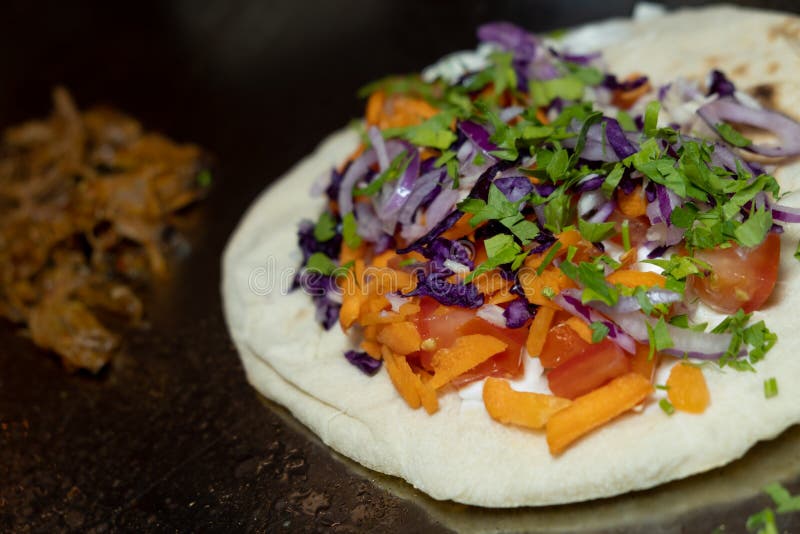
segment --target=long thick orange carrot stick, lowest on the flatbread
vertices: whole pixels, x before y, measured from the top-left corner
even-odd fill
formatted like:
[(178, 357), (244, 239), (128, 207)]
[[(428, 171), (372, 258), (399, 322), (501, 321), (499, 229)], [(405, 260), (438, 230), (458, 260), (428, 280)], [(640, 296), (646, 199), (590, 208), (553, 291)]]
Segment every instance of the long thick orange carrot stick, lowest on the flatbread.
[(561, 454), (575, 440), (642, 402), (653, 386), (637, 373), (627, 373), (578, 397), (547, 422), (547, 445)]

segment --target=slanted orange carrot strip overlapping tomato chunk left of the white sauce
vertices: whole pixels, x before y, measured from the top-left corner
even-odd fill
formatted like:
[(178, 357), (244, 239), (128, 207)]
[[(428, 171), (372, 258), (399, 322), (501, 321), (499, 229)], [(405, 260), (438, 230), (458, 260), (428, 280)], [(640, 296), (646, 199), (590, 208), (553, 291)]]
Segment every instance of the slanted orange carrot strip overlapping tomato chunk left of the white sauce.
[(472, 334), (461, 336), (449, 348), (433, 354), (431, 364), (435, 371), (428, 385), (439, 389), (457, 376), (488, 360), (508, 345), (493, 336)]

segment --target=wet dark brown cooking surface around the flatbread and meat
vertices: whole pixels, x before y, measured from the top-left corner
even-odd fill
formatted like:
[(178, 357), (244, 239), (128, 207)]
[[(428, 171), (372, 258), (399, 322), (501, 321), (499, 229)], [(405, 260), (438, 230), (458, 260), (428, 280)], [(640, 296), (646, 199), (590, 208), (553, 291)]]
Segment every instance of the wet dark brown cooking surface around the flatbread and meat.
[[(82, 106), (113, 103), (205, 146), (217, 170), (189, 234), (192, 254), (153, 286), (150, 327), (130, 332), (101, 376), (65, 374), (0, 324), (0, 531), (742, 531), (768, 504), (753, 497), (768, 480), (747, 473), (796, 477), (798, 432), (757, 450), (780, 459), (772, 471), (759, 463), (767, 460), (745, 460), (665, 490), (541, 511), (437, 505), (353, 468), (265, 407), (222, 320), (219, 256), (238, 217), (358, 115), (359, 86), (471, 47), (486, 20), (544, 30), (632, 4), (4, 3), (0, 126), (45, 114), (51, 87), (64, 83)], [(703, 500), (720, 488), (739, 491)], [(798, 523), (780, 517), (789, 531)]]

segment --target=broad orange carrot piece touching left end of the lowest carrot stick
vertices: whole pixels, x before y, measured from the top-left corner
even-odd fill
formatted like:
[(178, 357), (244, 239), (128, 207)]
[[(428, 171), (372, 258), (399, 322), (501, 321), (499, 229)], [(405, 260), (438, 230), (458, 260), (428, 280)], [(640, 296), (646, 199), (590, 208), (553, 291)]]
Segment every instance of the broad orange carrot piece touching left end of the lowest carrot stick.
[(514, 391), (507, 381), (489, 377), (483, 383), (483, 404), (492, 419), (503, 424), (538, 429), (572, 401), (553, 395)]

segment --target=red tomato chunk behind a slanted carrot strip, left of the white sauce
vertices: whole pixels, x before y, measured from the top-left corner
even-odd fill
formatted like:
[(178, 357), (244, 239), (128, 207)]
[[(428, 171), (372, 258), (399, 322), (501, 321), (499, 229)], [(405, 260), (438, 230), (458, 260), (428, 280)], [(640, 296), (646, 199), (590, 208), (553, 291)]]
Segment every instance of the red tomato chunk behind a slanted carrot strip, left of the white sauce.
[(471, 334), (487, 334), (494, 336), (508, 347), (506, 350), (492, 356), (477, 367), (470, 369), (463, 375), (453, 380), (456, 387), (480, 380), (487, 376), (498, 378), (517, 378), (522, 375), (524, 366), (522, 363), (522, 347), (525, 345), (528, 332), (525, 328), (500, 328), (480, 317), (475, 317), (458, 329), (459, 336)]

